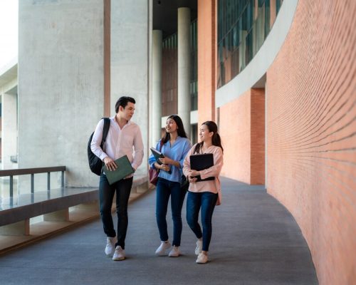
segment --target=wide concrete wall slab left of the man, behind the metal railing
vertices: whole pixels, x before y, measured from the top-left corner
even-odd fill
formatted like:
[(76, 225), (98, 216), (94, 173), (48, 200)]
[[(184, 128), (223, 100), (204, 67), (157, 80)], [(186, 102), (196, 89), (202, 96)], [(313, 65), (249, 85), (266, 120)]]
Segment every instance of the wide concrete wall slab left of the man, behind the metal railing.
[(19, 1), (19, 167), (66, 165), (66, 185), (97, 186), (87, 142), (102, 116), (103, 0)]

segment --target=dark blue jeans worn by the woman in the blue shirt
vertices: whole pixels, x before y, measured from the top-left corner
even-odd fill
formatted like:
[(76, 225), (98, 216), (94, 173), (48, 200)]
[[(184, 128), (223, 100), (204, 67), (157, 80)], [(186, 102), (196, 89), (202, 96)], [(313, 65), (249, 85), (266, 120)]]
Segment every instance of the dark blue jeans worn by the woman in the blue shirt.
[(180, 246), (182, 236), (182, 207), (187, 191), (180, 189), (179, 182), (172, 182), (161, 177), (158, 178), (156, 188), (156, 220), (159, 230), (159, 238), (162, 242), (168, 240), (167, 232), (167, 207), (169, 196), (171, 197), (171, 209), (173, 219), (173, 245)]

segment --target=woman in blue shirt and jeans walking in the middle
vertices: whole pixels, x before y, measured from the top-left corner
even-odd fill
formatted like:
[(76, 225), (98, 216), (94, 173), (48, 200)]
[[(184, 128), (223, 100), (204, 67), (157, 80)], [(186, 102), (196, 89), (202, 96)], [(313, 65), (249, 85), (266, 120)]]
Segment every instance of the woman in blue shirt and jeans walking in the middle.
[(173, 219), (173, 247), (169, 257), (179, 257), (179, 246), (182, 235), (182, 206), (187, 191), (181, 190), (182, 168), (184, 157), (192, 147), (185, 133), (182, 119), (178, 115), (170, 115), (166, 122), (166, 133), (159, 142), (156, 149), (160, 150), (164, 158), (157, 163), (153, 155), (148, 163), (159, 170), (156, 194), (156, 219), (161, 244), (156, 250), (159, 256), (166, 255), (167, 249), (171, 247), (167, 232), (167, 207), (169, 196), (171, 197), (172, 219)]

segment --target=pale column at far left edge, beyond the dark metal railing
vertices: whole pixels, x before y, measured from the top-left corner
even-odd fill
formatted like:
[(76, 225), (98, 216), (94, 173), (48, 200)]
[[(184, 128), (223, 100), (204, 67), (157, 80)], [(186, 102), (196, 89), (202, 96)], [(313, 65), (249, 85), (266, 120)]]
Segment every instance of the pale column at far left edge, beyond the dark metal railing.
[(17, 95), (1, 96), (1, 169), (17, 168), (10, 157), (17, 155)]

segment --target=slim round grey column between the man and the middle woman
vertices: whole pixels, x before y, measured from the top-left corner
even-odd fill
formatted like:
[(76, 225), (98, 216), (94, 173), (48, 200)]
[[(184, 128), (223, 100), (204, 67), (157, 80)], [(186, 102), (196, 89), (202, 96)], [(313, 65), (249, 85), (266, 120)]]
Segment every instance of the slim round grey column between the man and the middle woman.
[(152, 32), (152, 142), (161, 137), (162, 116), (162, 31)]

